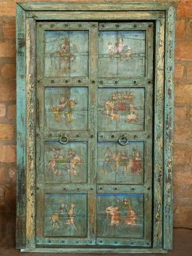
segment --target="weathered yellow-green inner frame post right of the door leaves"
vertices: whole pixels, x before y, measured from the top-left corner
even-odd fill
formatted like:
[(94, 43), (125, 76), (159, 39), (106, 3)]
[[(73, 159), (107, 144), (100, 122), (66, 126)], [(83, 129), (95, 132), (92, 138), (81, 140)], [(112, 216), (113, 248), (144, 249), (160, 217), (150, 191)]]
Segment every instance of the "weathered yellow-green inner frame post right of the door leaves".
[(156, 72), (154, 86), (154, 220), (153, 247), (161, 248), (163, 244), (163, 102), (164, 102), (164, 54), (165, 21), (156, 21)]

